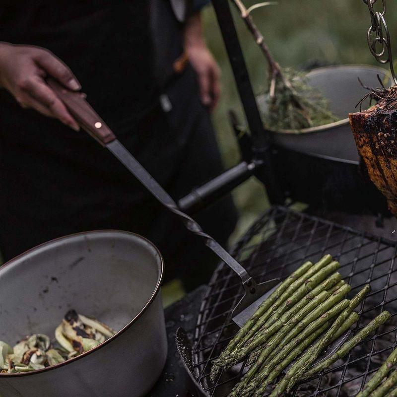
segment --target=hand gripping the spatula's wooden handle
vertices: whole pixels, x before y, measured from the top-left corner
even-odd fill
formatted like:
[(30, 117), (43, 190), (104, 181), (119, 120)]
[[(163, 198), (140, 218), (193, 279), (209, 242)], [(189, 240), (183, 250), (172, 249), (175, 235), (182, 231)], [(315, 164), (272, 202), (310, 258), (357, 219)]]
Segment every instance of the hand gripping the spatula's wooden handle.
[(57, 118), (78, 131), (77, 122), (46, 83), (48, 75), (73, 91), (81, 88), (70, 69), (50, 51), (0, 43), (0, 87), (7, 89), (23, 108)]

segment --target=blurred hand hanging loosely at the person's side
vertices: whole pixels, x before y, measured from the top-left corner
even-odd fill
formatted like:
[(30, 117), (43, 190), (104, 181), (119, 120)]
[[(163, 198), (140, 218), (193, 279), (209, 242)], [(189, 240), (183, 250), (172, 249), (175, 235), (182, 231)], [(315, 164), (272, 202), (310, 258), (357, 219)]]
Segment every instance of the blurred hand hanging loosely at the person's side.
[(189, 61), (199, 77), (201, 101), (212, 111), (220, 97), (220, 70), (202, 36), (199, 14), (188, 19), (184, 42)]

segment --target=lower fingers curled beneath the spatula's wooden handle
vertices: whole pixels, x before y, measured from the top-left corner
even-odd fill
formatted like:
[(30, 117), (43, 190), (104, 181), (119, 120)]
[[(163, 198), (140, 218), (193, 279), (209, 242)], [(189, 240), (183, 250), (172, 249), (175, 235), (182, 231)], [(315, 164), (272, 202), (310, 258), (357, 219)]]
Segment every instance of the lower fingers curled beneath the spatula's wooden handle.
[(45, 116), (55, 117), (61, 120), (66, 126), (79, 131), (77, 122), (42, 78), (39, 76), (32, 77), (26, 81), (24, 87), (27, 94), (27, 100), (24, 101), (25, 106), (32, 107)]

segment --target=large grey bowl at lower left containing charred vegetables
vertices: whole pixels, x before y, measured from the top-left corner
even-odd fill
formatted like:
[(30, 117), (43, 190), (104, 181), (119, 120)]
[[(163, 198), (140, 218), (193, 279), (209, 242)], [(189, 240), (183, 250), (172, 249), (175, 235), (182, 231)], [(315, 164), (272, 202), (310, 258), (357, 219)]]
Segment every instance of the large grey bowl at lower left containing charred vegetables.
[(53, 337), (71, 308), (118, 331), (57, 366), (0, 374), (0, 396), (145, 395), (167, 356), (162, 276), (163, 260), (149, 241), (111, 230), (53, 240), (0, 267), (0, 340)]

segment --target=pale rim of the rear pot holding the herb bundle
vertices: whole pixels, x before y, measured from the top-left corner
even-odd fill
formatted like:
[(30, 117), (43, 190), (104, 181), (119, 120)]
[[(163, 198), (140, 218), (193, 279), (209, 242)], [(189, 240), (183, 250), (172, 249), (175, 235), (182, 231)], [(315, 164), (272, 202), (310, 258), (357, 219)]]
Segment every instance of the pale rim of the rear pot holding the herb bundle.
[[(391, 78), (390, 71), (388, 69), (385, 69), (381, 66), (376, 66), (376, 65), (365, 65), (365, 64), (346, 64), (346, 65), (331, 65), (331, 66), (322, 66), (322, 67), (316, 67), (312, 70), (310, 70), (306, 75), (310, 76), (313, 74), (317, 74), (319, 72), (322, 72), (327, 69), (343, 69), (343, 68), (350, 68), (350, 67), (360, 67), (363, 69), (378, 69), (379, 71), (382, 71), (387, 75), (389, 78)], [(317, 126), (317, 127), (309, 127), (309, 128), (302, 128), (300, 130), (268, 130), (271, 133), (274, 134), (284, 134), (284, 135), (300, 135), (304, 133), (312, 133), (312, 132), (322, 132), (322, 131), (327, 131), (335, 127), (339, 126), (344, 126), (349, 124), (349, 117), (346, 117), (345, 119), (335, 121), (333, 123), (329, 124), (323, 124), (322, 126)]]

